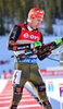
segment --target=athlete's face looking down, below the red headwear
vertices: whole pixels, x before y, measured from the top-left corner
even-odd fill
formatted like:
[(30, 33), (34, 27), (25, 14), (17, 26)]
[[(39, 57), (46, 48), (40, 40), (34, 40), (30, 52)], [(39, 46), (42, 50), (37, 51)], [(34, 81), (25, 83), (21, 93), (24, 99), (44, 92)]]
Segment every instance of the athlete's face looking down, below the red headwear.
[(36, 29), (42, 22), (43, 19), (38, 19), (38, 17), (32, 17), (30, 22), (30, 27), (33, 29)]

